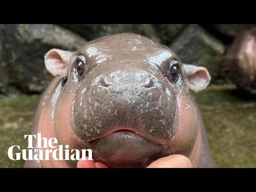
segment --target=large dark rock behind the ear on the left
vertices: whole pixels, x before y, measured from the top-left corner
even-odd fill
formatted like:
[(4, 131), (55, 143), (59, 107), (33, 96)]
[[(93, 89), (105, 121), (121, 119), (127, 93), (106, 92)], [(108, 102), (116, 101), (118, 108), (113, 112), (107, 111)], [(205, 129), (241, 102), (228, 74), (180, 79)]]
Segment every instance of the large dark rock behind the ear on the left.
[(86, 40), (52, 24), (4, 24), (3, 43), (9, 65), (9, 82), (24, 92), (42, 92), (52, 79), (44, 66), (51, 48), (76, 50)]

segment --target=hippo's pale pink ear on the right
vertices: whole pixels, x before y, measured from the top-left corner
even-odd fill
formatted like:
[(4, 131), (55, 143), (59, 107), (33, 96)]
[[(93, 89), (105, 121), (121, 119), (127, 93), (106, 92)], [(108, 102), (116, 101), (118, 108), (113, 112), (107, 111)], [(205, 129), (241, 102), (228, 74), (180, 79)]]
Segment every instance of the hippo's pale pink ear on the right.
[(205, 89), (210, 83), (211, 76), (204, 67), (183, 64), (187, 76), (187, 86), (195, 92)]

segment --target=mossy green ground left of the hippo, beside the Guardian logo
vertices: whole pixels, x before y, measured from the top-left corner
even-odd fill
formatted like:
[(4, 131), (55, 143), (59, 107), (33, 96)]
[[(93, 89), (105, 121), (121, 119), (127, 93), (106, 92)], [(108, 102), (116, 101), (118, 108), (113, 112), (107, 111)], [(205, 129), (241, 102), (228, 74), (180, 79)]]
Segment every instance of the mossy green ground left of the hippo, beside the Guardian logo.
[(30, 134), (38, 96), (1, 96), (0, 95), (0, 167), (23, 167), (24, 161), (10, 160), (8, 148), (20, 145), (26, 148), (24, 134)]

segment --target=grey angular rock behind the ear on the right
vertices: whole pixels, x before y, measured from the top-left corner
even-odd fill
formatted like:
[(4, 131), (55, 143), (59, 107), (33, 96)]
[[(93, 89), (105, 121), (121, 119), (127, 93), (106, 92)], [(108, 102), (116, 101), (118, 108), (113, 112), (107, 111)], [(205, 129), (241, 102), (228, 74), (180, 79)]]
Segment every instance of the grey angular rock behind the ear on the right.
[(199, 25), (190, 24), (186, 27), (170, 48), (182, 62), (206, 67), (212, 76), (212, 82), (222, 77), (224, 45)]

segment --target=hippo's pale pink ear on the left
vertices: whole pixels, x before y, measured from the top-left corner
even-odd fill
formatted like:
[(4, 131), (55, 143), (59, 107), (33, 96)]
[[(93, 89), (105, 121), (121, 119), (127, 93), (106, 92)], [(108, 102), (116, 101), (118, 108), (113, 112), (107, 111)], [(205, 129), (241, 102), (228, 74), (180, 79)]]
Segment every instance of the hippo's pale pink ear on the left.
[(68, 61), (72, 55), (70, 51), (51, 49), (44, 56), (46, 69), (53, 76), (66, 78), (68, 76)]

